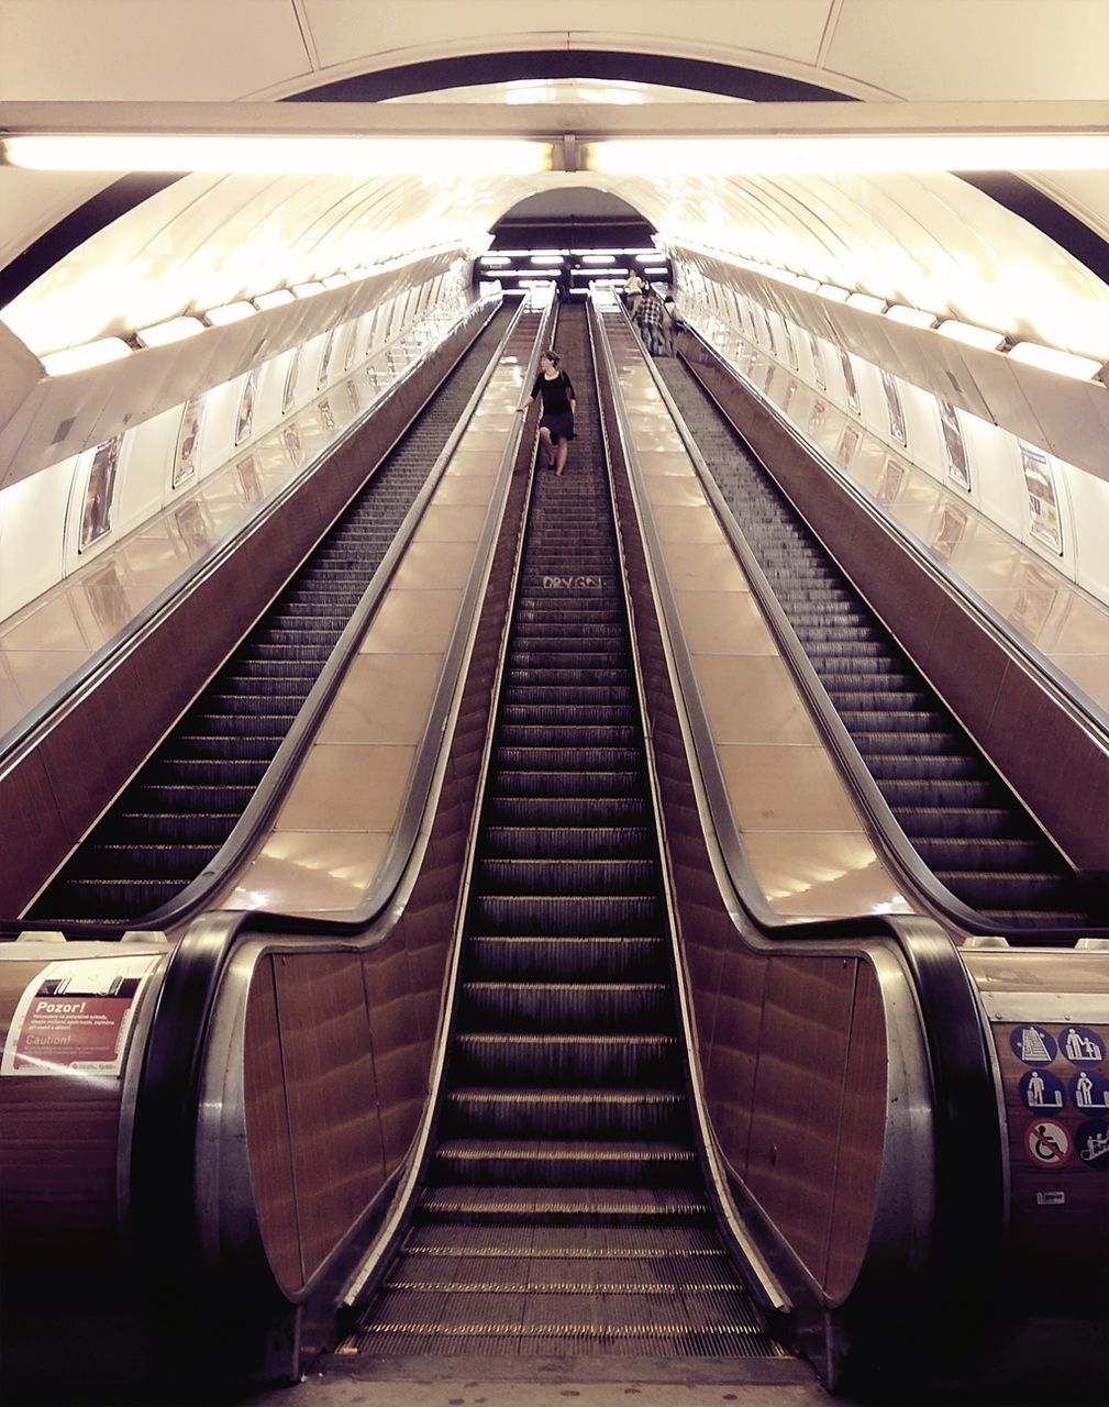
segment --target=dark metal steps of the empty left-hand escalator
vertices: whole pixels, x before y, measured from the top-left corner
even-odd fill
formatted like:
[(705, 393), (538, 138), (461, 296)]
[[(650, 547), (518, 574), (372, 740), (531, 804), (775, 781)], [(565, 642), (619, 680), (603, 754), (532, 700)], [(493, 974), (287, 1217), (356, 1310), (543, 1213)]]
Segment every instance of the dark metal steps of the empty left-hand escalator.
[(27, 917), (129, 922), (169, 903), (255, 795), (405, 514), (474, 393), (512, 310), (432, 401), (144, 764)]

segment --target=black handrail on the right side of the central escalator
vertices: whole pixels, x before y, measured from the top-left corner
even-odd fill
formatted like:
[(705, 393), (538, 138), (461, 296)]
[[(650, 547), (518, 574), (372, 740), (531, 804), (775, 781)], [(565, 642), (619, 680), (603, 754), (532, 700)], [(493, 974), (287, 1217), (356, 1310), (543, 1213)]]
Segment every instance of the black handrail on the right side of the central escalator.
[[(650, 515), (643, 512), (642, 470), (618, 391), (619, 380), (604, 318), (597, 321), (602, 328), (598, 340), (614, 393), (614, 411), (638, 528), (652, 568), (652, 590), (659, 601), (659, 629), (673, 647), (678, 633), (677, 616), (667, 615), (667, 592), (659, 591), (666, 582), (666, 573), (660, 566), (657, 535), (650, 529)], [(673, 612), (673, 598), (670, 606)], [(676, 705), (684, 709), (691, 730), (698, 732), (692, 726), (692, 716), (702, 711), (688, 651), (673, 649), (671, 660), (677, 684)], [(695, 701), (695, 706), (690, 706), (691, 701)], [(694, 740), (695, 763), (691, 760), (698, 768), (705, 758), (715, 756), (704, 715), (699, 723), (699, 741)], [(705, 789), (709, 794), (714, 826), (726, 817), (725, 826), (733, 829), (730, 808), (725, 803), (723, 810), (719, 809), (723, 798), (722, 778), (715, 801), (708, 778)], [(732, 850), (730, 861), (742, 858), (739, 837), (735, 840), (737, 848)], [(777, 916), (768, 919), (760, 889), (750, 888), (753, 872), (746, 858), (735, 870), (726, 862), (726, 874), (732, 892), (723, 896), (725, 902), (729, 908), (735, 903), (754, 931), (763, 938), (774, 940), (778, 948), (794, 948), (818, 940), (856, 946), (878, 938), (895, 944), (915, 995), (932, 1082), (936, 1158), (936, 1220), (930, 1266), (933, 1283), (944, 1287), (972, 1285), (975, 1296), (988, 1299), (987, 1280), (991, 1271), (999, 1269), (1003, 1247), (1003, 1131), (992, 1051), (978, 993), (954, 944), (934, 920), (923, 916), (867, 915), (802, 922), (784, 922)], [(753, 893), (760, 895), (759, 902), (752, 902)]]

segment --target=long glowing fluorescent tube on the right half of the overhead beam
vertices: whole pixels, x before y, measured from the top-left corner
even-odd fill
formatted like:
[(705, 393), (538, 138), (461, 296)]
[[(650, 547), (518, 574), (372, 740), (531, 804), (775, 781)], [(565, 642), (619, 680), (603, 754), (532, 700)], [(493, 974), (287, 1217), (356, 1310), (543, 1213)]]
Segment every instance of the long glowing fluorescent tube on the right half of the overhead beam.
[(581, 144), (585, 169), (607, 176), (647, 170), (683, 176), (830, 172), (1105, 170), (1109, 134), (933, 136), (721, 136)]

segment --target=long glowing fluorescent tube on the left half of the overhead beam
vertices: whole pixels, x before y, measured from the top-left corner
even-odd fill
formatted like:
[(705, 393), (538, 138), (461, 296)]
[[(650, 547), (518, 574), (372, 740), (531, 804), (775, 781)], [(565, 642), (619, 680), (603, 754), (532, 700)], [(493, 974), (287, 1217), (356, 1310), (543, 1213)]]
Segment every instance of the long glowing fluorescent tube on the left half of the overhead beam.
[(533, 176), (550, 142), (463, 136), (6, 136), (8, 166), (55, 172), (251, 172), (312, 176)]

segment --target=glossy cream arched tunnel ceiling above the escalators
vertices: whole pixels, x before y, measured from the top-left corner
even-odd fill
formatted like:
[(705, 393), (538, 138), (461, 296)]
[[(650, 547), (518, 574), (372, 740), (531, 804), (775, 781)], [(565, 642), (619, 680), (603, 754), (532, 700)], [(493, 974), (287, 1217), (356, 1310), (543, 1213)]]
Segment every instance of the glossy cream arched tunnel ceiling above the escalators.
[[(583, 107), (600, 96), (626, 108), (639, 97), (670, 111), (694, 84), (718, 108), (722, 94), (943, 101), (967, 114), (982, 100), (1109, 101), (1105, 0), (560, 0), (559, 28), (552, 14), (504, 0), (0, 0), (0, 103), (349, 100), (421, 87), (422, 101), (452, 84), (462, 91), (441, 98)], [(590, 69), (605, 77), (567, 98), (574, 70)], [(497, 82), (476, 89), (480, 77)], [(642, 87), (666, 77), (663, 90)], [(1027, 179), (1102, 248), (1109, 159), (1099, 172)], [(0, 167), (0, 269), (34, 273), (1, 317), (44, 356), (405, 252), (480, 248), (508, 208), (569, 184), (612, 191), (674, 243), (1109, 359), (1106, 288), (1088, 262), (946, 172), (191, 174), (100, 228), (89, 212), (104, 191), (118, 196), (113, 182)]]

